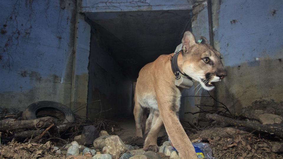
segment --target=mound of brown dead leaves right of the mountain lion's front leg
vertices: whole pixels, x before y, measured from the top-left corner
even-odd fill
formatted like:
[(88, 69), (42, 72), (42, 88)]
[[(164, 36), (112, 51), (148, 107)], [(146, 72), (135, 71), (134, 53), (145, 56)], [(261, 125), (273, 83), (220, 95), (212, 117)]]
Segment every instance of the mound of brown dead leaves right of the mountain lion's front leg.
[(282, 142), (233, 127), (203, 130), (189, 138), (192, 142), (208, 142), (215, 158), (283, 158)]

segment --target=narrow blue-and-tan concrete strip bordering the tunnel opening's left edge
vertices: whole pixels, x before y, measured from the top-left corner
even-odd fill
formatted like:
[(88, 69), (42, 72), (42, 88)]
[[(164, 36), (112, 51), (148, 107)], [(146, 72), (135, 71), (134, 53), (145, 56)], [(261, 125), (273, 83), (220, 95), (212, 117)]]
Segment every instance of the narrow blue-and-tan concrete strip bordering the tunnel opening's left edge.
[(71, 109), (82, 117), (87, 112), (88, 97), (88, 57), (90, 52), (91, 27), (85, 17), (77, 14), (75, 52), (73, 54)]

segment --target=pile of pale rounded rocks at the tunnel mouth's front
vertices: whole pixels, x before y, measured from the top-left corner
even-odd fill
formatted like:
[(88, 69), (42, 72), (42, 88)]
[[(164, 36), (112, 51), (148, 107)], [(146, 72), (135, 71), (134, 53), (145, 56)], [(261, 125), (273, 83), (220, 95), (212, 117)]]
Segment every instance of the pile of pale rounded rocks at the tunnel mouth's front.
[[(65, 146), (67, 151), (54, 147), (56, 153), (67, 155), (68, 159), (179, 159), (176, 151), (173, 150), (169, 141), (163, 143), (159, 152), (145, 152), (138, 146), (126, 145), (117, 135), (109, 135), (106, 131), (100, 132), (100, 137), (93, 141), (93, 147), (87, 148), (79, 145), (77, 141)], [(76, 137), (78, 140), (80, 137)], [(80, 152), (82, 150), (82, 152)]]

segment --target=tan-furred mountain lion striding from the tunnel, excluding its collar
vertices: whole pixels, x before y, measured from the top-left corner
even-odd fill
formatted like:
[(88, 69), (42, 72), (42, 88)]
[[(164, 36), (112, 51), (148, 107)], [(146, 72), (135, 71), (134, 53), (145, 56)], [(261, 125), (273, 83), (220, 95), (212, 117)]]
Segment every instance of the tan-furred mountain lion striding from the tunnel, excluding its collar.
[[(218, 82), (226, 75), (219, 52), (207, 44), (195, 42), (190, 32), (185, 32), (182, 39), (183, 51), (177, 62), (181, 72), (202, 82), (208, 77), (211, 82)], [(147, 135), (144, 150), (158, 151), (157, 136), (162, 124), (180, 158), (197, 158), (195, 150), (187, 137), (176, 113), (180, 107), (182, 89), (175, 86), (175, 76), (171, 69), (173, 54), (161, 55), (154, 62), (145, 65), (139, 72), (135, 90), (134, 116), (136, 135)], [(203, 58), (209, 57), (212, 63), (205, 63)], [(209, 73), (209, 76), (207, 75)], [(220, 78), (221, 77), (221, 78)], [(208, 82), (208, 81), (207, 81)], [(202, 86), (206, 90), (213, 87)], [(150, 115), (144, 123), (144, 109), (150, 109)], [(160, 115), (159, 115), (160, 114)], [(145, 126), (144, 126), (145, 125)]]

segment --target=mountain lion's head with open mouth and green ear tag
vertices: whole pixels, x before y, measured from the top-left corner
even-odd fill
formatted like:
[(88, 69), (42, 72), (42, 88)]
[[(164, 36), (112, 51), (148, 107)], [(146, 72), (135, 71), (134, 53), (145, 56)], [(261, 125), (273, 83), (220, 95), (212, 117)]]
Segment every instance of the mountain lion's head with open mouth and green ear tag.
[(182, 70), (194, 80), (200, 82), (205, 90), (212, 90), (214, 82), (226, 76), (220, 53), (207, 43), (205, 37), (196, 43), (194, 35), (187, 31), (182, 39)]

